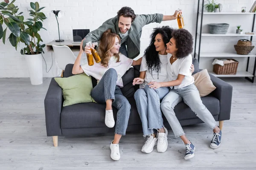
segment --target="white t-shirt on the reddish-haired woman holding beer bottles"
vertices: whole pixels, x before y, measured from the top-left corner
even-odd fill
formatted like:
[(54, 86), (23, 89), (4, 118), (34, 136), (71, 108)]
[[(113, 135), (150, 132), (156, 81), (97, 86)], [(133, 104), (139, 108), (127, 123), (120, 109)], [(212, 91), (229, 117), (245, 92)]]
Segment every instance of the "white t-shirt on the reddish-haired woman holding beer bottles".
[(87, 74), (87, 76), (92, 76), (97, 80), (102, 79), (102, 76), (105, 74), (105, 72), (108, 69), (114, 68), (118, 76), (116, 85), (123, 87), (122, 76), (131, 67), (133, 59), (129, 59), (123, 54), (119, 54), (119, 57), (120, 57), (119, 62), (116, 62), (116, 57), (111, 57), (111, 59), (108, 62), (108, 68), (105, 68), (101, 64), (101, 62), (96, 63), (95, 60), (94, 60), (94, 65), (89, 66), (88, 62), (86, 62), (83, 65), (81, 65), (81, 68), (83, 69), (84, 73)]

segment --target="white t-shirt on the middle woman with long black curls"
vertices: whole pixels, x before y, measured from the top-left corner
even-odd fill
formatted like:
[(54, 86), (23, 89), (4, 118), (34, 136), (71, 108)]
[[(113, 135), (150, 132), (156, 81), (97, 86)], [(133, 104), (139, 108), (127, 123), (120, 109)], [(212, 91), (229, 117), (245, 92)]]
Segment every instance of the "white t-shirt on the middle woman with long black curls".
[(148, 65), (146, 62), (145, 56), (142, 57), (141, 65), (140, 65), (140, 71), (146, 71), (145, 79), (143, 84), (140, 85), (140, 88), (144, 88), (145, 85), (148, 85), (149, 82), (167, 82), (168, 81), (168, 75), (167, 75), (167, 55), (160, 55), (158, 54), (161, 62), (161, 69), (158, 72), (158, 78), (157, 78), (157, 72), (155, 70), (151, 73), (148, 71)]

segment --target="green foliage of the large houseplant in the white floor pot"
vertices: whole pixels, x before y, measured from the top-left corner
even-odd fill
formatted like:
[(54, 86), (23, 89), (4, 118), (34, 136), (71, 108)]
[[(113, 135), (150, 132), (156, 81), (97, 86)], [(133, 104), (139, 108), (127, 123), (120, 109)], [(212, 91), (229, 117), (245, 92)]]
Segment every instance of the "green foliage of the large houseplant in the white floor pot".
[[(5, 44), (6, 30), (9, 28), (12, 33), (8, 39), (12, 46), (17, 50), (17, 45), (20, 42), (26, 45), (25, 48), (20, 50), (21, 54), (44, 53), (45, 44), (40, 44), (43, 40), (38, 31), (43, 28), (42, 22), (47, 18), (43, 12), (40, 12), (45, 7), (40, 8), (38, 2), (31, 2), (32, 9), (29, 10), (29, 15), (32, 18), (24, 20), (24, 16), (21, 15), (23, 12), (17, 14), (19, 8), (14, 5), (14, 2), (15, 0), (12, 0), (11, 3), (9, 3), (9, 0), (4, 0), (0, 3), (0, 39), (3, 38)], [(3, 30), (3, 24), (7, 26), (5, 30)]]

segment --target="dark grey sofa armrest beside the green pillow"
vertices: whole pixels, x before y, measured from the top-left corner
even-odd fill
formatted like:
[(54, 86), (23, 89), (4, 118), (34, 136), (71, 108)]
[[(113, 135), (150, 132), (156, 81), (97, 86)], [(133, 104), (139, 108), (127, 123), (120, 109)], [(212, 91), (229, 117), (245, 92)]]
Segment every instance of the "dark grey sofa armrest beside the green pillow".
[(62, 89), (52, 78), (44, 99), (47, 136), (61, 136)]

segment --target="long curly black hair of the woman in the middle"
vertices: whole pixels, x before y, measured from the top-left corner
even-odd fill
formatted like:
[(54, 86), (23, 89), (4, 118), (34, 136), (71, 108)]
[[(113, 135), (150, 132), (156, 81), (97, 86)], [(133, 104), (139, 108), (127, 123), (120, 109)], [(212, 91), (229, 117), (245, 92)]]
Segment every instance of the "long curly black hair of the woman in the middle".
[(168, 43), (172, 38), (172, 31), (173, 28), (169, 26), (163, 26), (162, 28), (154, 28), (153, 32), (150, 35), (151, 41), (149, 46), (145, 49), (144, 55), (148, 66), (148, 71), (151, 75), (153, 70), (155, 70), (158, 73), (159, 70), (161, 69), (161, 62), (158, 56), (158, 51), (156, 51), (156, 48), (154, 46), (154, 39), (157, 36), (157, 34), (160, 33), (162, 35), (164, 45), (166, 46), (166, 43)]

